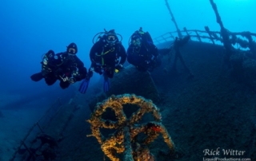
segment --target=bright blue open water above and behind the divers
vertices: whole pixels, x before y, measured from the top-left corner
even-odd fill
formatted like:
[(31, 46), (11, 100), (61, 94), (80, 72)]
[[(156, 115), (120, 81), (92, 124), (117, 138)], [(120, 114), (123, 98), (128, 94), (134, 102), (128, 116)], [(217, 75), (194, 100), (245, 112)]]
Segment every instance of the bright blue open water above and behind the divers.
[[(256, 33), (256, 1), (214, 2), (226, 29)], [(164, 0), (2, 0), (1, 94), (26, 95), (29, 92), (33, 95), (50, 89), (67, 92), (56, 89), (58, 84), (48, 87), (43, 81), (30, 81), (30, 75), (41, 70), (43, 53), (49, 49), (53, 49), (55, 53), (65, 51), (66, 45), (75, 42), (78, 45), (78, 57), (89, 68), (92, 39), (103, 29), (115, 29), (120, 33), (126, 49), (130, 35), (139, 27), (149, 31), (152, 37), (175, 31), (165, 3)], [(170, 0), (169, 3), (180, 29), (186, 27), (204, 30), (204, 26), (209, 26), (211, 30), (220, 30), (210, 1)], [(0, 108), (1, 106), (0, 102)]]

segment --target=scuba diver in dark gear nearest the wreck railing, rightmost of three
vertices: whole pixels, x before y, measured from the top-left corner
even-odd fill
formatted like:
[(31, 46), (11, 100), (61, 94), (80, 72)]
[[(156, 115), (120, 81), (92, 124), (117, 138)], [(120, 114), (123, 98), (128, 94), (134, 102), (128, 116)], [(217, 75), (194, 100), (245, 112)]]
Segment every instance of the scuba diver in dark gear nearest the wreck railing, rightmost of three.
[(139, 71), (153, 71), (161, 65), (158, 48), (154, 45), (150, 33), (143, 32), (142, 27), (135, 31), (127, 49), (127, 61)]

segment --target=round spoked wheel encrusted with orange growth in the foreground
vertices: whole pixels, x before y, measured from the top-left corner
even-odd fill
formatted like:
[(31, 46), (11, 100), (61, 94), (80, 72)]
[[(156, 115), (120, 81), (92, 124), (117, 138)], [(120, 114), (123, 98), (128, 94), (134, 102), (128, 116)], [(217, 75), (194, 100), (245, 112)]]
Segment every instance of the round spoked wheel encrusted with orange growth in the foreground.
[[(125, 112), (123, 112), (123, 105), (125, 104), (134, 104), (139, 107), (130, 118), (127, 118)], [(117, 121), (102, 119), (102, 114), (106, 112), (107, 108), (114, 111)], [(146, 112), (154, 116), (154, 121), (139, 124)], [(92, 134), (88, 136), (94, 136), (98, 140), (102, 151), (111, 160), (154, 160), (148, 146), (160, 133), (168, 147), (170, 147), (170, 151), (174, 151), (174, 143), (166, 128), (162, 125), (161, 119), (159, 109), (151, 100), (129, 94), (113, 95), (97, 104), (90, 120), (88, 120), (92, 131)], [(106, 138), (100, 132), (101, 128), (115, 129), (115, 131)], [(138, 141), (140, 133), (145, 133), (146, 137)], [(118, 158), (118, 153), (124, 153), (123, 159)]]

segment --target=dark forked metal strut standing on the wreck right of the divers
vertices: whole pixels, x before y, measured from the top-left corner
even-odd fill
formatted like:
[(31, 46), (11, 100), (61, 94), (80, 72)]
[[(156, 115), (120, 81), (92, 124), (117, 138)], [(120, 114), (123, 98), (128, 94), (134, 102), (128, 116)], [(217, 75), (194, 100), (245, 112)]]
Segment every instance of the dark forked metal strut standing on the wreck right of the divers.
[(175, 37), (174, 44), (171, 47), (171, 49), (174, 49), (174, 52), (175, 52), (174, 65), (173, 65), (171, 71), (173, 73), (177, 72), (176, 65), (177, 65), (177, 61), (178, 61), (178, 58), (179, 58), (179, 60), (181, 61), (182, 65), (184, 66), (186, 72), (189, 73), (189, 78), (193, 78), (194, 75), (190, 72), (190, 69), (187, 68), (187, 66), (185, 64), (185, 61), (183, 60), (182, 54), (179, 51), (179, 48), (182, 47), (183, 45), (185, 45), (187, 43), (187, 41), (189, 41), (189, 40), (190, 40), (190, 35), (188, 35), (186, 37), (183, 37), (183, 38)]

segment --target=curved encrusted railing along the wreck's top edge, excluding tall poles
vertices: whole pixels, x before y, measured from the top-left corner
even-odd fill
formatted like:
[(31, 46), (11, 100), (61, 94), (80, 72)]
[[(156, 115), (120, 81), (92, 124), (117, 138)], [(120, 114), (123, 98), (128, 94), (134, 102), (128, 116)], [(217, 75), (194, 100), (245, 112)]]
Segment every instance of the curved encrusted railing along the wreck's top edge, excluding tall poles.
[[(206, 30), (199, 30), (199, 29), (186, 29), (183, 28), (180, 32), (182, 33), (182, 36), (190, 35), (191, 39), (194, 41), (201, 41), (202, 39), (208, 39), (208, 41), (211, 41), (213, 44), (222, 44), (222, 33), (218, 31), (210, 31), (209, 27), (205, 27)], [(230, 35), (230, 42), (232, 45), (237, 46), (238, 48), (243, 49), (250, 49), (254, 51), (256, 49), (256, 43), (254, 40), (256, 40), (256, 33), (250, 33), (250, 32), (229, 32)], [(165, 43), (168, 41), (174, 41), (175, 37), (178, 37), (178, 32), (173, 31), (169, 33), (162, 34), (159, 37), (154, 38), (154, 43), (156, 45)], [(207, 41), (205, 41), (207, 42)]]

